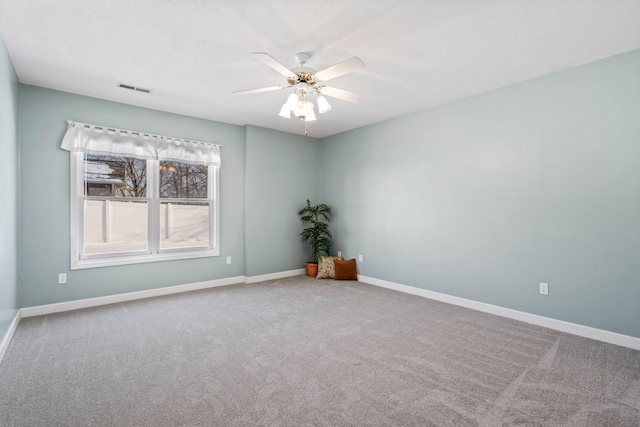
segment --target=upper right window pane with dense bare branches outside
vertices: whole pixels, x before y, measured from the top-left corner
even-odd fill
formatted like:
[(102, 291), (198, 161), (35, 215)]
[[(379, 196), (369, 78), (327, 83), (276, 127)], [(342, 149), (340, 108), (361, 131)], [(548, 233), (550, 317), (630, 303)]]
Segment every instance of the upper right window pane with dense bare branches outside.
[(164, 199), (206, 199), (207, 166), (160, 162), (160, 197)]

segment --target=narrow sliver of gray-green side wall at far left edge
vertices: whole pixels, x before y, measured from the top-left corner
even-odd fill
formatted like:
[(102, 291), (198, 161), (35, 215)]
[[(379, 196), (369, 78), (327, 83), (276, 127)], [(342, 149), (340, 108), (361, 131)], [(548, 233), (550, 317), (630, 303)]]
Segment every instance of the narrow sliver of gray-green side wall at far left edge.
[(0, 341), (18, 312), (18, 78), (0, 37)]

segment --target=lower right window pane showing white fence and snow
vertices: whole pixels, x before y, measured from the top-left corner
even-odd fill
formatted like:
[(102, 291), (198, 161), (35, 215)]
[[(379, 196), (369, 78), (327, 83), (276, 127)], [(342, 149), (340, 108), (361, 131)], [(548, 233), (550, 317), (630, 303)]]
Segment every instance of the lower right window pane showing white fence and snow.
[(209, 203), (160, 204), (160, 249), (209, 246)]

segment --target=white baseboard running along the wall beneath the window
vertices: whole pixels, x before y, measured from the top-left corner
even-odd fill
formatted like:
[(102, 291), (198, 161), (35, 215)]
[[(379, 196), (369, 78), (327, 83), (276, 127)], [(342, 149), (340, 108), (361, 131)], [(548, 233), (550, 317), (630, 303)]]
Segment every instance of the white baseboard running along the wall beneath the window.
[(39, 305), (35, 307), (25, 307), (20, 309), (20, 315), (22, 317), (42, 316), (45, 314), (79, 310), (82, 308), (97, 307), (100, 305), (114, 304), (118, 302), (134, 301), (138, 299), (158, 297), (162, 295), (177, 294), (180, 292), (197, 291), (200, 289), (215, 288), (218, 286), (235, 285), (242, 282), (242, 276), (228, 277), (225, 279), (207, 280), (205, 282), (189, 283), (186, 285), (168, 286), (166, 288), (128, 292), (126, 294), (108, 295), (104, 297), (88, 298), (77, 301), (60, 302), (56, 304)]

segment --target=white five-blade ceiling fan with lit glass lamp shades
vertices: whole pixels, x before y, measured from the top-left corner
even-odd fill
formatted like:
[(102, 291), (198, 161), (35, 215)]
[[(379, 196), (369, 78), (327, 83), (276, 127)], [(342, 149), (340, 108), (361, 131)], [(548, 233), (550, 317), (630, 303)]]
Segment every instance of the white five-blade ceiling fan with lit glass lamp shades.
[(298, 62), (298, 67), (291, 70), (282, 65), (268, 53), (254, 52), (252, 55), (285, 76), (287, 78), (287, 84), (262, 87), (258, 89), (240, 90), (233, 93), (237, 95), (248, 95), (251, 93), (269, 92), (272, 90), (292, 89), (291, 94), (280, 110), (279, 116), (281, 117), (288, 119), (291, 118), (291, 114), (293, 113), (294, 116), (305, 122), (316, 120), (314, 105), (309, 101), (309, 97), (311, 95), (316, 96), (318, 112), (320, 114), (326, 113), (331, 109), (331, 105), (324, 97), (325, 95), (354, 103), (360, 102), (363, 99), (363, 96), (358, 95), (357, 93), (324, 85), (324, 82), (328, 80), (343, 76), (360, 68), (364, 68), (364, 62), (356, 56), (329, 68), (325, 68), (322, 71), (316, 72), (313, 68), (305, 67), (305, 64), (310, 58), (308, 53), (298, 53), (295, 56), (296, 61)]

